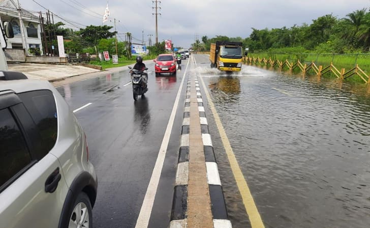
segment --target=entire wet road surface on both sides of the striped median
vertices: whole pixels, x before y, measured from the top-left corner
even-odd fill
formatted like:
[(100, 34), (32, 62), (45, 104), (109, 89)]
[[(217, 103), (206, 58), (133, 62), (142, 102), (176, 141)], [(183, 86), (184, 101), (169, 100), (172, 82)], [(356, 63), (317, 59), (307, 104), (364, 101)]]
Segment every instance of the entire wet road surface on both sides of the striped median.
[[(253, 66), (228, 75), (191, 63), (204, 80), (265, 227), (368, 227), (370, 102), (363, 86)], [(183, 68), (187, 61), (183, 61)], [(84, 128), (99, 178), (94, 227), (134, 227), (183, 73), (155, 78), (134, 102), (128, 70), (59, 87)], [(117, 87), (114, 87), (118, 85)], [(114, 87), (110, 92), (104, 93)], [(119, 88), (118, 88), (119, 87)], [(201, 87), (228, 214), (251, 227)], [(182, 92), (149, 227), (167, 227)]]

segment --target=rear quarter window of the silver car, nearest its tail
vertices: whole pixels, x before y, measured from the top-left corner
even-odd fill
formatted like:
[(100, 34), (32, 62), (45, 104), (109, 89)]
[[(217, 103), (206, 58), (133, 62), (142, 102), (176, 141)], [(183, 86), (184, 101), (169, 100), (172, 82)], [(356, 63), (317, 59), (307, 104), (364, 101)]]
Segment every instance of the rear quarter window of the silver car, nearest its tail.
[(29, 111), (39, 132), (40, 142), (36, 143), (44, 157), (54, 147), (58, 132), (57, 112), (54, 96), (49, 90), (38, 90), (18, 94)]

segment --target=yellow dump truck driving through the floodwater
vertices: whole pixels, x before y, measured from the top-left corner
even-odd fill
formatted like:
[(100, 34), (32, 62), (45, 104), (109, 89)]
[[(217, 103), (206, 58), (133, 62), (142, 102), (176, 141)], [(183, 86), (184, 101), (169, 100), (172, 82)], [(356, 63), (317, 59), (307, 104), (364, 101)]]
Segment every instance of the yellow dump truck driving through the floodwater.
[(217, 67), (222, 71), (240, 71), (242, 64), (241, 42), (217, 41), (211, 44), (209, 60), (211, 68)]

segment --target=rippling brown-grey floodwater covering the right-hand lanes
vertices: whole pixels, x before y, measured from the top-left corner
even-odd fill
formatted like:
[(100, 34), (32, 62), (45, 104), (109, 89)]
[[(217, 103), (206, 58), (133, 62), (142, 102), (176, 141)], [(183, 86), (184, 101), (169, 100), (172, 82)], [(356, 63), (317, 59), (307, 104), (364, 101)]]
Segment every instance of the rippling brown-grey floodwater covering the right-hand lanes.
[[(266, 227), (370, 227), (365, 86), (252, 66), (199, 71)], [(213, 144), (233, 227), (250, 227), (222, 144)]]

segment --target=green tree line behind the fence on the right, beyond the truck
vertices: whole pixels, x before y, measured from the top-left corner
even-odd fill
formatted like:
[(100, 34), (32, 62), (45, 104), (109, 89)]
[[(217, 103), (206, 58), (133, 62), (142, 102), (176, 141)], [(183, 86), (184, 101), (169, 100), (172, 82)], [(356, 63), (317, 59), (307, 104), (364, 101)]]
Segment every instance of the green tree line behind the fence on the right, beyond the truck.
[(318, 17), (312, 24), (304, 23), (290, 28), (252, 28), (249, 37), (217, 35), (209, 39), (202, 36), (192, 48), (208, 51), (216, 41), (242, 42), (250, 51), (315, 52), (315, 53), (366, 53), (370, 51), (370, 11), (356, 10), (337, 18), (332, 14)]

